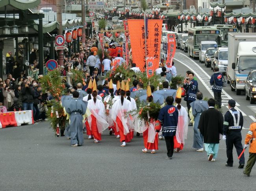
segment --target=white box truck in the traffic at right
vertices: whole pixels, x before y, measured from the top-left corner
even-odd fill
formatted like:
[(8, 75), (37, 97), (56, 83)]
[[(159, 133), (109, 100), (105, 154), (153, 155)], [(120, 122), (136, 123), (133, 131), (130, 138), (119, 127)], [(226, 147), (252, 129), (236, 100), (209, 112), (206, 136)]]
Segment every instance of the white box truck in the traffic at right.
[(240, 95), (250, 70), (256, 69), (256, 33), (228, 33), (227, 81)]

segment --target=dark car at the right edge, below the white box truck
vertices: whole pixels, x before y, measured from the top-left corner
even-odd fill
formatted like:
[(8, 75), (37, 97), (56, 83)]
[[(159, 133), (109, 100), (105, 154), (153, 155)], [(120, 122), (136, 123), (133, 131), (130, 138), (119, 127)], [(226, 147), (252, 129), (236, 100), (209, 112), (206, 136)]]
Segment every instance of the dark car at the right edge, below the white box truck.
[(245, 80), (245, 97), (250, 100), (250, 104), (254, 104), (256, 100), (256, 70), (249, 72)]

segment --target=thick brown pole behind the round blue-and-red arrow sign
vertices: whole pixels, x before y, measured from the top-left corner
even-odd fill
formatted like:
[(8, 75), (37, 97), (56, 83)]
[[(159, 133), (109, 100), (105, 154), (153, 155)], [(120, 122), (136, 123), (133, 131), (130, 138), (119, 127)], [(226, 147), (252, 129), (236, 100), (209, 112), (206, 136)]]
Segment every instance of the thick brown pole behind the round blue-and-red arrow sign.
[[(62, 30), (62, 9), (61, 9), (61, 0), (56, 1), (57, 5), (57, 21), (59, 22), (59, 30), (58, 30), (58, 35), (63, 35), (63, 30)], [(64, 65), (63, 64), (63, 50), (58, 50), (58, 64), (59, 65)]]

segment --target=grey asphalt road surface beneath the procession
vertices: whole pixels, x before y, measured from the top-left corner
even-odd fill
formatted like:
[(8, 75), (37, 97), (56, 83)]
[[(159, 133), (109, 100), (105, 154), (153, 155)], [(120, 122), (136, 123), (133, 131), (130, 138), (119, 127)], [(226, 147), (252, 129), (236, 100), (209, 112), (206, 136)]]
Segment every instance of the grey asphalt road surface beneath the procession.
[[(175, 63), (178, 74), (185, 76), (188, 68)], [(210, 98), (209, 91), (200, 81), (198, 83), (200, 91)], [(247, 101), (239, 99), (239, 103), (243, 106)], [(186, 103), (182, 101), (182, 105)], [(249, 103), (245, 108), (248, 106)], [(249, 127), (249, 119), (245, 123)], [(247, 131), (242, 130), (243, 139)], [(192, 126), (184, 149), (174, 153), (173, 160), (165, 159), (164, 140), (159, 140), (157, 153), (150, 154), (141, 151), (144, 148), (142, 136), (135, 136), (126, 147), (120, 147), (119, 139), (110, 136), (107, 130), (99, 144), (84, 137), (83, 146), (71, 147), (70, 140), (54, 135), (49, 122), (0, 129), (0, 190), (252, 191), (256, 187), (256, 167), (251, 177), (243, 176), (243, 170), (237, 168), (235, 150), (234, 166), (225, 167), (226, 146), (222, 140), (215, 162), (207, 161), (206, 152), (192, 149)], [(247, 150), (246, 161), (248, 155)]]

